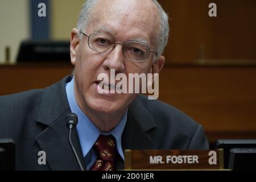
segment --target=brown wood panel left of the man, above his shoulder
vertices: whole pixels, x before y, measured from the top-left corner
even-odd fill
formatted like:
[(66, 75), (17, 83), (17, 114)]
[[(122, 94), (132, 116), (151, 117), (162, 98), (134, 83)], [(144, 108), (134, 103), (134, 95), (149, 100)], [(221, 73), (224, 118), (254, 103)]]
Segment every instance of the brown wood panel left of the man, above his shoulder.
[(0, 65), (0, 96), (45, 88), (72, 73), (69, 63), (24, 63)]

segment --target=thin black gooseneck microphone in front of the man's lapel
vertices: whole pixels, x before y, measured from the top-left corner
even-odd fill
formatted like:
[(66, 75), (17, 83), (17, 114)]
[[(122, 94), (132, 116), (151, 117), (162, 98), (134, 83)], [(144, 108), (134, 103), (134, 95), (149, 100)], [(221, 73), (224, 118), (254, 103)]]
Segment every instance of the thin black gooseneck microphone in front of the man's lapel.
[(71, 140), (71, 131), (76, 127), (77, 123), (78, 123), (78, 117), (75, 113), (69, 113), (66, 117), (66, 123), (67, 123), (67, 127), (69, 130), (69, 135), (68, 135), (68, 141), (69, 141), (69, 145), (72, 148), (73, 154), (76, 157), (76, 161), (79, 164), (79, 167), (81, 169), (81, 171), (84, 171), (84, 168), (82, 167), (82, 164), (79, 160), (79, 157), (77, 156), (75, 147), (73, 146), (72, 140)]

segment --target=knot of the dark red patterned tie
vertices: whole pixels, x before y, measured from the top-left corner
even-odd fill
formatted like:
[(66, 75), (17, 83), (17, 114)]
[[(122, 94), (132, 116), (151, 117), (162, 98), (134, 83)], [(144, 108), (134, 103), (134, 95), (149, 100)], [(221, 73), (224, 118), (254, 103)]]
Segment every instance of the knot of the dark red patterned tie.
[(115, 138), (112, 135), (100, 135), (93, 146), (98, 159), (114, 161), (116, 154)]

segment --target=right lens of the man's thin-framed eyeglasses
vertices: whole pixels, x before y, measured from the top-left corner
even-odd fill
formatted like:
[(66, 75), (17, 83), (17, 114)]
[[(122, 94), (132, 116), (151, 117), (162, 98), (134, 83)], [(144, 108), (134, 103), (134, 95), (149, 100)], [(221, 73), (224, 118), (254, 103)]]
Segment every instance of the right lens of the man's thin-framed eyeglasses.
[(150, 49), (138, 42), (127, 42), (123, 49), (125, 56), (134, 61), (144, 61), (150, 54)]

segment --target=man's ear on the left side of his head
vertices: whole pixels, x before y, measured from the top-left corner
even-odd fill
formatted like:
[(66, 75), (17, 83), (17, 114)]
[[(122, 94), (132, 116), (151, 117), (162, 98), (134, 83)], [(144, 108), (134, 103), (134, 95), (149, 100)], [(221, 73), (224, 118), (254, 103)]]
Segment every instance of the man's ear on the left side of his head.
[(70, 38), (70, 57), (71, 63), (73, 65), (76, 64), (76, 52), (79, 45), (79, 31), (76, 28), (71, 30), (71, 38)]

